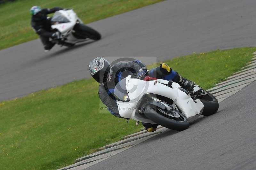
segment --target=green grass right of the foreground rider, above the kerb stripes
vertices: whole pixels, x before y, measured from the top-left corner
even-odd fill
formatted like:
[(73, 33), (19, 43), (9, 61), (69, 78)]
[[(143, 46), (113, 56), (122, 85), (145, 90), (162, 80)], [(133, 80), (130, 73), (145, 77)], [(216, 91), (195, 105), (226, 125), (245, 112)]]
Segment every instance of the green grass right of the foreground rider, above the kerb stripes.
[[(254, 51), (255, 47), (245, 47), (199, 54), (194, 52), (192, 55), (174, 58), (165, 63), (181, 76), (195, 81), (204, 89), (210, 89), (245, 66), (246, 62), (250, 62)], [(149, 68), (155, 66), (158, 64), (155, 63)]]

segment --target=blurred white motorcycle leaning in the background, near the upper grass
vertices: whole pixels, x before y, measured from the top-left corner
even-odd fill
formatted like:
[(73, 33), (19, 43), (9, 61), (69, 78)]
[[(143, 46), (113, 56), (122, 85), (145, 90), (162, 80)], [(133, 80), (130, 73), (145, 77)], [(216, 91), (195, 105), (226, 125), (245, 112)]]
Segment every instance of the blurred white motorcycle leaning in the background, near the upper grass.
[(60, 10), (51, 18), (52, 29), (60, 32), (60, 37), (51, 41), (60, 45), (73, 46), (86, 40), (100, 40), (96, 30), (83, 24), (73, 10)]

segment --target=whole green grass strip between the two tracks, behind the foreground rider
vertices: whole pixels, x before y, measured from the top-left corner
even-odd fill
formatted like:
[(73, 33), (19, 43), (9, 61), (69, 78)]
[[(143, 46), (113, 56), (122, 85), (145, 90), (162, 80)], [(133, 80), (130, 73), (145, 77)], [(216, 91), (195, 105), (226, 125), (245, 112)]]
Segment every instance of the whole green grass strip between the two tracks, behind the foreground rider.
[[(245, 66), (254, 51), (256, 48), (216, 50), (166, 63), (209, 89)], [(156, 64), (149, 67), (153, 66)], [(57, 169), (142, 127), (107, 111), (100, 113), (100, 106), (98, 83), (92, 79), (1, 102), (1, 169)]]

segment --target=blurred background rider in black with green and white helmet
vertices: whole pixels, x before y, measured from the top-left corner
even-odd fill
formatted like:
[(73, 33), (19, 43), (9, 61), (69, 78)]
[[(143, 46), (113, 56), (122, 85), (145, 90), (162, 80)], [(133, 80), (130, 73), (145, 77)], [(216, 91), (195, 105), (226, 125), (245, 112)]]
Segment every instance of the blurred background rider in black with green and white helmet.
[(44, 45), (44, 50), (49, 51), (55, 45), (49, 41), (49, 38), (60, 38), (60, 32), (52, 31), (51, 20), (47, 19), (47, 14), (54, 13), (56, 11), (62, 10), (63, 8), (55, 7), (52, 9), (40, 8), (39, 6), (33, 6), (30, 9), (32, 15), (31, 26), (35, 30), (36, 34), (40, 36), (41, 42)]

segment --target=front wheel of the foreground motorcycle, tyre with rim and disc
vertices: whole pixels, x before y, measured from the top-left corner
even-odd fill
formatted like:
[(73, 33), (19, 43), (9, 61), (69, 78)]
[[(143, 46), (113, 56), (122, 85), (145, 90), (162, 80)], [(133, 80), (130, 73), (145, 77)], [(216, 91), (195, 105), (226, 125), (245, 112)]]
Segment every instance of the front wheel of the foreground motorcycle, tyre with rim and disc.
[[(154, 105), (148, 104), (145, 106), (144, 115), (156, 124), (173, 130), (185, 130), (189, 127), (188, 119), (185, 115), (177, 110), (173, 110), (174, 117), (168, 116), (163, 110)], [(175, 117), (176, 115), (176, 117)]]

